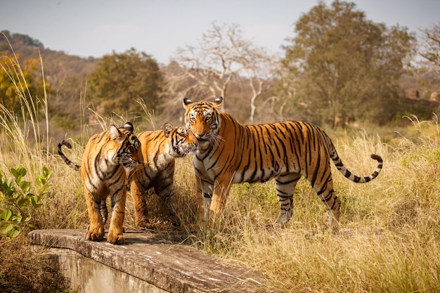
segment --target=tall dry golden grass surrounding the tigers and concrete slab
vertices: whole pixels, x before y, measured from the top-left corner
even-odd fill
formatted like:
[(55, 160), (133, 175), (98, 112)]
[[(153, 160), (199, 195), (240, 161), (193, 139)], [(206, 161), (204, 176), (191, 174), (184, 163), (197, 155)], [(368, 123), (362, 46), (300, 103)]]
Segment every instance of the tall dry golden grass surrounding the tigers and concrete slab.
[[(20, 71), (14, 78), (20, 78)], [(25, 104), (31, 117), (26, 121), (1, 108), (0, 169), (6, 173), (22, 166), (32, 178), (48, 167), (51, 195), (35, 211), (35, 226), (85, 229), (88, 217), (79, 174), (53, 154), (58, 142), (39, 129), (41, 122), (48, 125), (51, 119), (47, 103), (45, 96)], [(339, 156), (354, 174), (363, 176), (375, 169), (371, 153), (384, 159), (380, 176), (366, 184), (347, 181), (332, 167), (336, 193), (342, 199), (339, 233), (321, 230), (327, 211), (305, 180), (297, 185), (291, 221), (285, 227), (271, 226), (279, 207), (270, 181), (233, 185), (221, 228), (188, 234), (183, 243), (255, 268), (280, 292), (439, 292), (439, 128), (435, 121), (408, 119), (415, 136), (394, 134), (392, 145), (365, 131), (350, 136), (331, 133)], [(105, 117), (98, 121), (102, 128), (109, 122)], [(91, 130), (86, 124), (82, 129), (87, 138)], [(66, 152), (73, 161), (80, 162), (85, 142), (72, 140), (73, 149)], [(176, 167), (183, 226), (190, 227), (197, 211), (194, 180), (188, 176), (193, 172), (191, 159), (181, 159)], [(134, 228), (127, 198), (124, 225)]]

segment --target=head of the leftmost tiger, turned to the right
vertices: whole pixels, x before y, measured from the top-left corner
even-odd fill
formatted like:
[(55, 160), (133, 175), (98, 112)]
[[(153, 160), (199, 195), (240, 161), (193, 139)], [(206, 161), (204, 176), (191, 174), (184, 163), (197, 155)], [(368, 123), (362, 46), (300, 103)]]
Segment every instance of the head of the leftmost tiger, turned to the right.
[(136, 164), (140, 164), (141, 155), (138, 154), (141, 142), (133, 133), (133, 124), (127, 122), (124, 126), (117, 128), (110, 126), (110, 139), (116, 144), (117, 150), (112, 155), (114, 164), (122, 164), (124, 169), (131, 171)]

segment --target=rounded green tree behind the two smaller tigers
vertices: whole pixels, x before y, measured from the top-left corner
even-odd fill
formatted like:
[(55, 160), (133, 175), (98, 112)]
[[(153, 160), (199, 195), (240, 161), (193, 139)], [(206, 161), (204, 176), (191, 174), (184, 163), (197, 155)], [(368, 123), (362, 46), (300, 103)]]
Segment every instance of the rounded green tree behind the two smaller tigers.
[(162, 90), (162, 72), (156, 61), (134, 48), (104, 56), (89, 77), (89, 97), (96, 112), (110, 116), (140, 114), (137, 98), (155, 110)]

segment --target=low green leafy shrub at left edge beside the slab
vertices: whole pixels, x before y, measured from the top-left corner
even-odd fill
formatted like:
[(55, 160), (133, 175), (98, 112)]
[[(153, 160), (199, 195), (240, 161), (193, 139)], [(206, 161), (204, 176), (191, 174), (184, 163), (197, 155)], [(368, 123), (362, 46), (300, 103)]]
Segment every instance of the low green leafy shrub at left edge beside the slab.
[(20, 234), (23, 226), (32, 229), (29, 224), (31, 211), (41, 207), (41, 199), (48, 193), (51, 172), (44, 167), (42, 174), (35, 179), (38, 190), (32, 191), (31, 182), (22, 179), (27, 173), (26, 169), (19, 167), (10, 171), (15, 183), (13, 178), (3, 179), (4, 174), (0, 170), (0, 233), (13, 238)]

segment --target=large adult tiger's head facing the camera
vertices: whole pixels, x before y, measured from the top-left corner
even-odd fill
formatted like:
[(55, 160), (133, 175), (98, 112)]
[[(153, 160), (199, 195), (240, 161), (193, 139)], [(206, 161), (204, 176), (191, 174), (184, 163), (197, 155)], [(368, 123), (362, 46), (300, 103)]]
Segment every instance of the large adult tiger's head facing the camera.
[(221, 123), (219, 108), (222, 103), (223, 97), (216, 98), (214, 102), (201, 100), (197, 103), (193, 103), (188, 98), (183, 99), (183, 107), (186, 108), (186, 126), (193, 131), (199, 142), (214, 143), (216, 141), (216, 134)]

